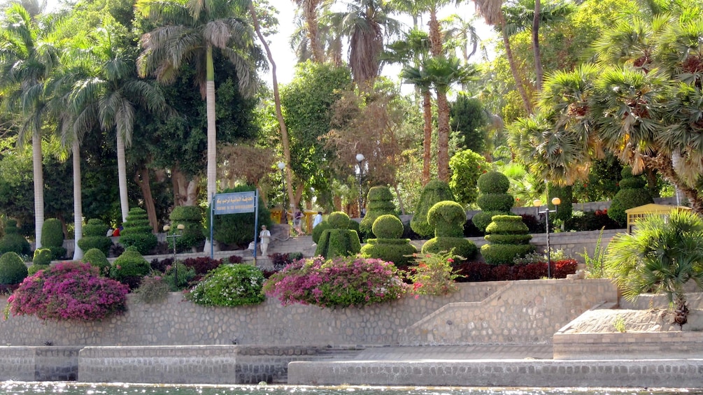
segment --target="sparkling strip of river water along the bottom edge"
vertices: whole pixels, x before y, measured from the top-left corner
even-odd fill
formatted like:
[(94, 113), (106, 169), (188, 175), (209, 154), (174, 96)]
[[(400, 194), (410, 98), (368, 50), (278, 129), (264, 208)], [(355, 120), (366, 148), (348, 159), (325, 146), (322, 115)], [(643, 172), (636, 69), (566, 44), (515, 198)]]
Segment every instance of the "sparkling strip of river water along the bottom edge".
[(703, 389), (302, 387), (0, 382), (0, 395), (703, 395)]

